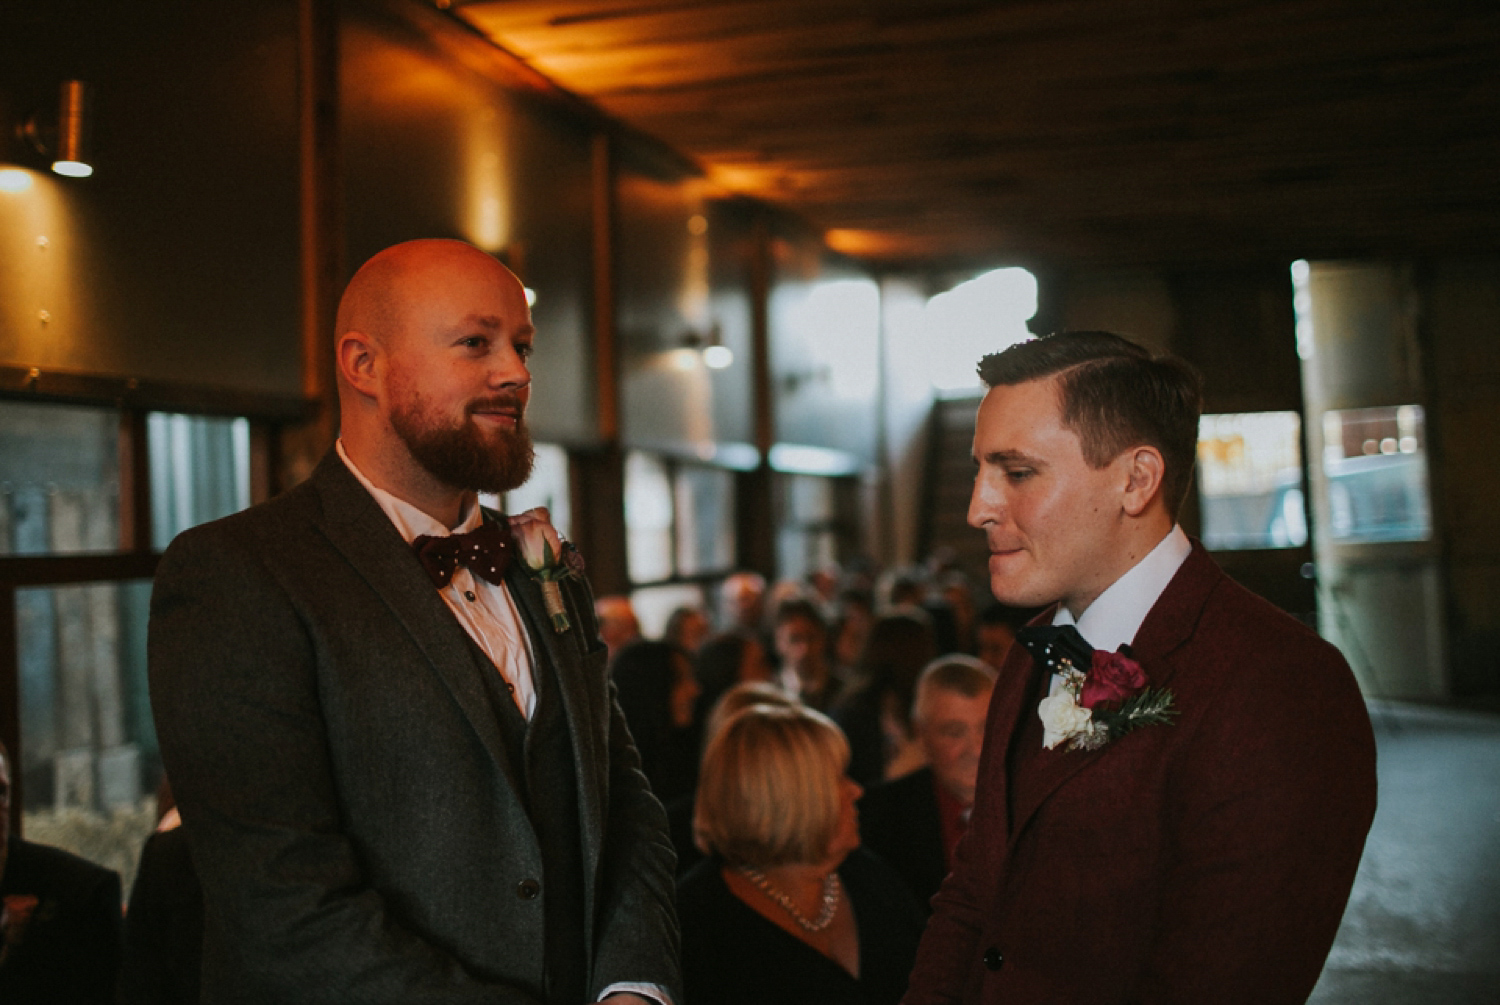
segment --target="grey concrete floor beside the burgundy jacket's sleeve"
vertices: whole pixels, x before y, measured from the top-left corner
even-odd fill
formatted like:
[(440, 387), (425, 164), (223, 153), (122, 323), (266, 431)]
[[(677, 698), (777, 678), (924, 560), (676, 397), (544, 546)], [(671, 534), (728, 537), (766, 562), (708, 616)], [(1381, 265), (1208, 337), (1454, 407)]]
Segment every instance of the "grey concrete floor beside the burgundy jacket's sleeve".
[(1312, 1005), (1500, 1002), (1500, 716), (1376, 704), (1380, 808)]

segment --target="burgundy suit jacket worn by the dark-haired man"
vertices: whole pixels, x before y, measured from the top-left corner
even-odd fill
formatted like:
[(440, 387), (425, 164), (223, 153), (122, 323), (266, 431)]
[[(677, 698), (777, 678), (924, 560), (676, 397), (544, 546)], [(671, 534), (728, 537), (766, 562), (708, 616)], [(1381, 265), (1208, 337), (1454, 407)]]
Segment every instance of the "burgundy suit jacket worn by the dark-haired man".
[(1311, 993), (1376, 810), (1374, 736), (1348, 664), (1198, 543), (1132, 650), (1152, 687), (1173, 692), (1176, 722), (1096, 752), (1042, 750), (1022, 784), (1006, 750), (1036, 716), (1035, 668), (1011, 650), (906, 1005)]

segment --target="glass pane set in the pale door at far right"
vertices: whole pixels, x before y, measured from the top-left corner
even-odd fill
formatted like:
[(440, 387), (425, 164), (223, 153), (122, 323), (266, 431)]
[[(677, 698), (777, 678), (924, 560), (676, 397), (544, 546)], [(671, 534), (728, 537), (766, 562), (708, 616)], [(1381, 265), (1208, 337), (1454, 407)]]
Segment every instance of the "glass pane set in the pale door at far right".
[(1334, 540), (1431, 537), (1420, 405), (1323, 412), (1323, 474)]

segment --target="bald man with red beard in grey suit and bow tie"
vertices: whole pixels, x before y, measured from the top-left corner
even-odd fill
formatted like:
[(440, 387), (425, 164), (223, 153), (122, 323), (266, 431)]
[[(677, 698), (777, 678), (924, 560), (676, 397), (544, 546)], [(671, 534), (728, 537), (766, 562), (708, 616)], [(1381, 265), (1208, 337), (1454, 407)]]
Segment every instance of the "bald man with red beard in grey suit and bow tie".
[(336, 328), (334, 450), (156, 576), (204, 1000), (670, 1005), (674, 855), (588, 585), (561, 580), (556, 622), (477, 501), (531, 470), (525, 290), (410, 242)]

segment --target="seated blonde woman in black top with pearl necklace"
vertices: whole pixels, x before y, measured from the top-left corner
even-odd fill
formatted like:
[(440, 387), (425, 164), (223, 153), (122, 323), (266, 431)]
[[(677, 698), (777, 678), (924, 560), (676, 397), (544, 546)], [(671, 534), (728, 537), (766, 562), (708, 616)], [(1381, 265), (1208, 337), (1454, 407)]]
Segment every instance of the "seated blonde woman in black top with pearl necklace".
[(896, 1005), (921, 938), (902, 880), (860, 849), (849, 747), (807, 708), (753, 705), (704, 753), (678, 884), (692, 1005)]

